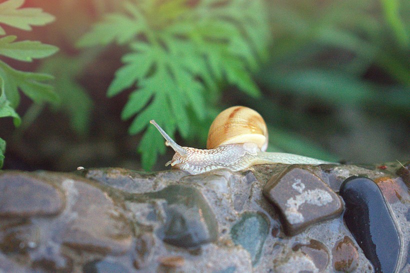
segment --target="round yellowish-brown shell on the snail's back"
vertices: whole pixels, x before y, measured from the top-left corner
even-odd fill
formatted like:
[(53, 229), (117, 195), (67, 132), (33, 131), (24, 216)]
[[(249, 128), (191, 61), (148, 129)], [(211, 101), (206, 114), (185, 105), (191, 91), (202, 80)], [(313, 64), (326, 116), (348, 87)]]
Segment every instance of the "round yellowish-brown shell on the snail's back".
[(261, 151), (266, 151), (267, 141), (267, 127), (262, 116), (248, 107), (232, 106), (213, 120), (206, 149), (226, 144), (255, 143)]

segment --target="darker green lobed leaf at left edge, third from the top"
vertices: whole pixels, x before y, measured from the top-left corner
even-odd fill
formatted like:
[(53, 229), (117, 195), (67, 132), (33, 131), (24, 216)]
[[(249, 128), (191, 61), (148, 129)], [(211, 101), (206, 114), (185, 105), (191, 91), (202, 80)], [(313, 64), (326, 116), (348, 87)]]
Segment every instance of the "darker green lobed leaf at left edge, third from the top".
[(4, 93), (13, 108), (18, 105), (18, 89), (34, 102), (57, 103), (59, 100), (52, 85), (43, 83), (53, 79), (51, 75), (18, 71), (0, 61), (0, 77), (4, 81)]

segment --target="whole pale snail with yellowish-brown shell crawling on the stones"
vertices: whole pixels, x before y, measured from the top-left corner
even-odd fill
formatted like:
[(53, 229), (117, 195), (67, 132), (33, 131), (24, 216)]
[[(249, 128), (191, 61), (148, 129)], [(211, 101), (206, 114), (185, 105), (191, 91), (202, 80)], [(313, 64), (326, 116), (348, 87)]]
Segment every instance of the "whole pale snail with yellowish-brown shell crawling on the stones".
[(209, 128), (205, 150), (181, 147), (154, 120), (150, 123), (165, 138), (165, 145), (175, 151), (165, 166), (170, 164), (193, 175), (222, 168), (241, 171), (257, 164), (331, 164), (301, 155), (265, 152), (266, 124), (259, 113), (244, 106), (230, 107), (216, 116)]

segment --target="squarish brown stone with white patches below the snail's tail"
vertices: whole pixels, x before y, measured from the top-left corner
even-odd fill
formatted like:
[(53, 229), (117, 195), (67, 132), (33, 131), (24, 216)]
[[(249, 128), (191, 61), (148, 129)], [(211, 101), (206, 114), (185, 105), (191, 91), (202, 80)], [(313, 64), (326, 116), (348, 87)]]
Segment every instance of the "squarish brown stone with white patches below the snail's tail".
[(288, 236), (341, 214), (340, 198), (319, 177), (299, 166), (289, 166), (273, 176), (263, 195), (280, 213)]

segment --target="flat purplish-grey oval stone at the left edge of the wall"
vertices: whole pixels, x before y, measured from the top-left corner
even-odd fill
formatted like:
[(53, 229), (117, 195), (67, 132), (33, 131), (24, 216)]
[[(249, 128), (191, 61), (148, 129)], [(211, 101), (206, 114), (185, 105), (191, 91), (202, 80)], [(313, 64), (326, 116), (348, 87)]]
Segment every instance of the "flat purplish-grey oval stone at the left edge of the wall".
[(62, 194), (30, 175), (0, 175), (0, 217), (50, 216), (64, 207)]

